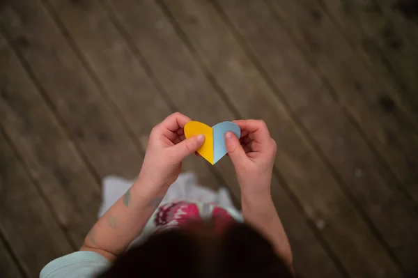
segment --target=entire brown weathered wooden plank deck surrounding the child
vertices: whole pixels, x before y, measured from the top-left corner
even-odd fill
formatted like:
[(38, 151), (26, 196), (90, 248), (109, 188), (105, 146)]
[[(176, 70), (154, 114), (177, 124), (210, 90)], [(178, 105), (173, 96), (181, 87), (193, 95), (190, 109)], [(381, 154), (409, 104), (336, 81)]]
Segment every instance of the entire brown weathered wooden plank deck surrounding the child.
[[(77, 250), (101, 179), (137, 175), (181, 111), (268, 124), (300, 277), (418, 277), (418, 24), (400, 2), (0, 1), (0, 276)], [(228, 159), (184, 170), (239, 200)]]

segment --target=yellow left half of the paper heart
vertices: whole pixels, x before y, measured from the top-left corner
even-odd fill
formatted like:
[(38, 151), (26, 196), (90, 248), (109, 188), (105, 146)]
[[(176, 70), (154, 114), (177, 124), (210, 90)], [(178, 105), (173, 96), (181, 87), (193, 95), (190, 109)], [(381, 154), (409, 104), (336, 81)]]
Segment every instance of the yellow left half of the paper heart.
[(205, 135), (205, 142), (197, 150), (199, 155), (208, 160), (213, 165), (213, 129), (204, 123), (190, 121), (185, 125), (185, 137), (190, 138), (195, 135)]

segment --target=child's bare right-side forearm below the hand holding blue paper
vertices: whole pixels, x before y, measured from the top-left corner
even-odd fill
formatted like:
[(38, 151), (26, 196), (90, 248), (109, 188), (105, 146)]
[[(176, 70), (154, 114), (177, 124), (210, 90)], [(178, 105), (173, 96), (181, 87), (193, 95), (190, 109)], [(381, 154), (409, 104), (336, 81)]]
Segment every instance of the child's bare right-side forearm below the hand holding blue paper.
[(291, 245), (281, 224), (279, 215), (272, 201), (270, 192), (263, 194), (249, 194), (242, 192), (242, 215), (245, 222), (253, 225), (273, 245), (277, 254), (293, 268)]

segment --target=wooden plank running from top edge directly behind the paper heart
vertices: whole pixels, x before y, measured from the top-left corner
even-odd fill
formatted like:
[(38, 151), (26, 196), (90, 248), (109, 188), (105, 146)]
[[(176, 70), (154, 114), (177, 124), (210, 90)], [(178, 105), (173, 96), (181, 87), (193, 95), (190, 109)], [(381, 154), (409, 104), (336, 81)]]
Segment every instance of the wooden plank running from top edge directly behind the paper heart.
[[(180, 111), (209, 125), (234, 118), (235, 115), (208, 82), (187, 47), (153, 1), (104, 3), (107, 3), (106, 10), (112, 20), (130, 34), (134, 45)], [(239, 195), (229, 160), (220, 161), (215, 168), (235, 194)], [(298, 208), (290, 201), (283, 187), (279, 186), (276, 177), (273, 178), (272, 187), (277, 208), (291, 237), (297, 270), (305, 275), (314, 273), (322, 277), (341, 277), (304, 222)], [(314, 257), (317, 260), (311, 259)]]

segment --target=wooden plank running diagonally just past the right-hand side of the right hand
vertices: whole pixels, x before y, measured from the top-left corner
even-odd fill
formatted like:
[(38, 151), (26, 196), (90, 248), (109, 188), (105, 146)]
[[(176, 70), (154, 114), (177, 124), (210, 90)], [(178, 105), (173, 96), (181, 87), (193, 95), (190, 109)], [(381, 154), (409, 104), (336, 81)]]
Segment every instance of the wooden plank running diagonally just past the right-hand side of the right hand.
[[(346, 263), (347, 268), (350, 270), (354, 269), (352, 265), (357, 265), (357, 263), (362, 261), (362, 272), (365, 276), (378, 275), (380, 272), (374, 272), (376, 271), (376, 267), (380, 264), (378, 263), (378, 260), (382, 259), (382, 262), (390, 262), (391, 259), (387, 254), (382, 256), (382, 258), (378, 258), (378, 260), (376, 260), (376, 257), (373, 258), (375, 252), (383, 252), (383, 248), (380, 247), (380, 242), (378, 242), (373, 233), (368, 230), (367, 224), (362, 222), (355, 206), (346, 199), (339, 185), (335, 182), (329, 171), (327, 171), (324, 164), (318, 157), (310, 154), (313, 150), (311, 150), (307, 141), (304, 141), (302, 136), (300, 136), (300, 130), (298, 132), (297, 128), (292, 126), (295, 125), (295, 123), (285, 111), (286, 107), (284, 107), (281, 102), (277, 101), (277, 98), (275, 98), (275, 95), (268, 87), (268, 84), (258, 73), (257, 68), (251, 64), (251, 61), (242, 51), (240, 45), (235, 41), (232, 33), (228, 31), (227, 26), (222, 22), (214, 8), (207, 1), (185, 0), (174, 2), (167, 0), (164, 1), (164, 3), (167, 3), (167, 6), (169, 7), (168, 13), (172, 14), (174, 20), (180, 25), (181, 31), (184, 31), (187, 36), (187, 40), (190, 41), (192, 47), (199, 53), (199, 59), (203, 60), (219, 84), (224, 88), (224, 92), (229, 97), (229, 100), (235, 104), (236, 109), (243, 117), (263, 118), (269, 126), (274, 126), (274, 124), (281, 127), (288, 125), (288, 130), (274, 128), (270, 133), (279, 141), (284, 137), (283, 134), (293, 137), (293, 146), (298, 149), (297, 153), (294, 154), (300, 155), (301, 153), (304, 153), (309, 157), (307, 158), (301, 155), (297, 157), (292, 155), (292, 157), (296, 157), (293, 159), (293, 164), (301, 165), (304, 169), (310, 169), (311, 173), (310, 171), (305, 170), (305, 175), (309, 181), (304, 181), (304, 184), (310, 182), (316, 183), (316, 186), (302, 186), (303, 183), (297, 183), (300, 182), (300, 179), (292, 179), (292, 170), (286, 169), (289, 165), (288, 160), (283, 158), (283, 153), (286, 153), (286, 150), (288, 151), (289, 149), (288, 144), (284, 144), (283, 149), (280, 149), (279, 146), (276, 160), (277, 170), (282, 172), (284, 178), (291, 184), (292, 189), (295, 190), (295, 194), (304, 206), (310, 207), (310, 213), (316, 215), (314, 216), (314, 219), (318, 214), (324, 215), (325, 218), (323, 221), (327, 224), (325, 224), (325, 229), (323, 229), (321, 233), (330, 240), (330, 245), (332, 247), (336, 245), (336, 253), (341, 256), (341, 259), (343, 260), (343, 263)], [(246, 5), (246, 3), (242, 4)], [(252, 21), (260, 21), (260, 18), (250, 18), (251, 24), (254, 24)], [(291, 52), (291, 50), (288, 49), (288, 55), (293, 58), (294, 55), (289, 52)], [(295, 52), (297, 54), (297, 50)], [(270, 53), (270, 56), (273, 55), (274, 53)], [(300, 59), (294, 59), (293, 63), (298, 63), (301, 67), (304, 65), (302, 57), (300, 57)], [(237, 67), (237, 65), (240, 66)], [(289, 68), (289, 70), (293, 70), (293, 68)], [(309, 73), (308, 71), (306, 72)], [(312, 74), (315, 75), (314, 72), (312, 72)], [(293, 79), (295, 79), (293, 72), (290, 72), (290, 75), (289, 78), (293, 77)], [(295, 84), (297, 84), (297, 82), (295, 82)], [(300, 90), (297, 86), (293, 86), (293, 88), (289, 87), (288, 91), (289, 93), (295, 93)], [(327, 109), (328, 107), (325, 105), (332, 107), (332, 102), (325, 102), (320, 108)], [(318, 111), (320, 112), (320, 110)], [(336, 123), (341, 121), (347, 123), (345, 116), (342, 113), (338, 113), (338, 109), (332, 109), (332, 111), (334, 113), (327, 116), (336, 118)], [(322, 115), (311, 114), (311, 116), (316, 116), (316, 118), (318, 118)], [(284, 120), (281, 121), (281, 119)], [(347, 131), (356, 134), (353, 127), (351, 127), (351, 130)], [(326, 130), (326, 132), (330, 133), (329, 130)], [(328, 134), (325, 134), (325, 136), (328, 136)], [(362, 146), (361, 144), (364, 144), (358, 134), (355, 138), (359, 139), (360, 146)], [(353, 145), (353, 149), (357, 148), (356, 144)], [(364, 147), (366, 147), (365, 144)], [(292, 146), (290, 146), (290, 148), (292, 148)], [(348, 150), (348, 152), (350, 151), (351, 150)], [(288, 173), (286, 173), (286, 170)], [(323, 174), (316, 176), (317, 173)], [(350, 176), (353, 175), (351, 174)], [(293, 185), (293, 183), (295, 184)], [(297, 187), (299, 187), (299, 189), (297, 189)], [(312, 201), (312, 199), (315, 201)], [(338, 206), (332, 207), (332, 210), (341, 213), (344, 212), (346, 215), (351, 215), (350, 217), (336, 219), (334, 219), (334, 217), (329, 217), (330, 219), (327, 219), (327, 216), (333, 214), (330, 211), (330, 206), (327, 206), (327, 204), (332, 203), (335, 200), (339, 200), (339, 203)], [(380, 216), (382, 217), (383, 215)], [(318, 219), (315, 220), (318, 221)], [(353, 245), (362, 245), (363, 253), (356, 254), (355, 250), (347, 250), (346, 246), (341, 247), (341, 240), (336, 240), (336, 238), (334, 238), (336, 235), (332, 234), (339, 231), (333, 230), (332, 228), (327, 229), (327, 225), (330, 225), (330, 227), (352, 227), (352, 233), (350, 233), (350, 235), (345, 235), (345, 238), (347, 242), (352, 242)], [(355, 229), (358, 230), (354, 231)], [(353, 234), (355, 234), (355, 236), (352, 236)], [(338, 247), (338, 245), (340, 245), (340, 247)], [(380, 251), (377, 251), (378, 249), (380, 249)], [(351, 253), (349, 256), (358, 258), (359, 261), (348, 261), (348, 253)], [(369, 268), (369, 271), (371, 272), (364, 271), (366, 268)], [(392, 270), (389, 268), (387, 275), (392, 275), (390, 273), (391, 271), (396, 273), (393, 265)]]

